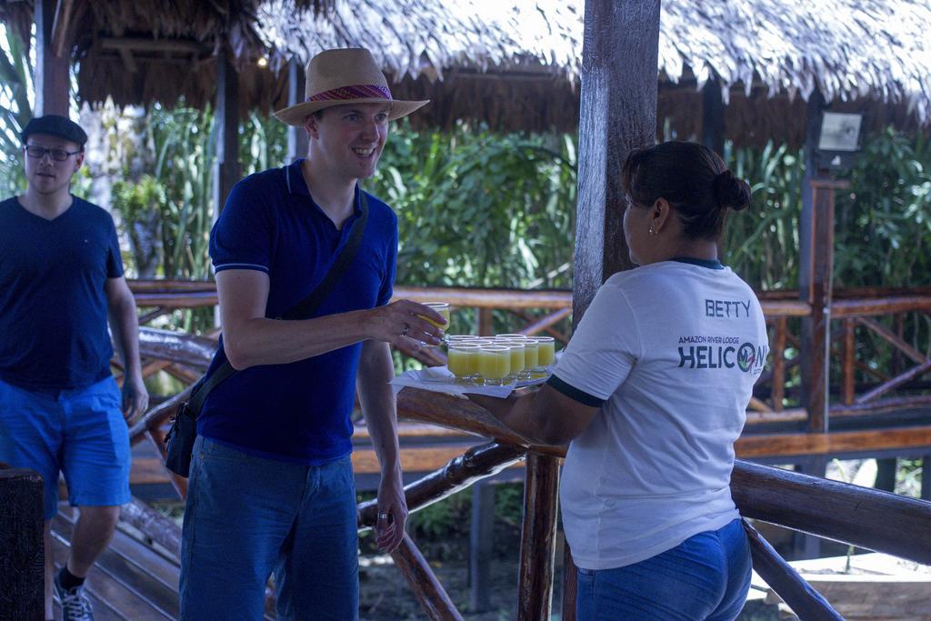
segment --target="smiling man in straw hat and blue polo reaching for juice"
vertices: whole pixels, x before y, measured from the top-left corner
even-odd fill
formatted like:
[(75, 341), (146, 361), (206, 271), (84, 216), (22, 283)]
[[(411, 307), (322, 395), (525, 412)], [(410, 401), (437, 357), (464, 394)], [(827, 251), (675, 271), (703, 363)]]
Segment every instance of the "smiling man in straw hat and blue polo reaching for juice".
[[(223, 341), (209, 369), (237, 370), (198, 418), (182, 537), (183, 619), (262, 618), (274, 572), (281, 619), (358, 616), (354, 394), (382, 468), (377, 543), (393, 549), (401, 484), (389, 344), (439, 344), (445, 320), (389, 304), (398, 223), (358, 180), (375, 173), (388, 121), (426, 101), (391, 99), (365, 49), (318, 54), (307, 101), (278, 119), (304, 127), (306, 159), (234, 187), (210, 236)], [(278, 319), (315, 290), (360, 224), (358, 254), (313, 318)]]

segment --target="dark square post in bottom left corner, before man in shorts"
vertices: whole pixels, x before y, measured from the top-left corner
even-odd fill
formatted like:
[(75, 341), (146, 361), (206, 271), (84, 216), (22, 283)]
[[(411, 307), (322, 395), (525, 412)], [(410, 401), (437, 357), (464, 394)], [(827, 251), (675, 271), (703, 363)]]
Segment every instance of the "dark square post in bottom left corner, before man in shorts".
[(0, 618), (44, 619), (42, 477), (0, 466)]

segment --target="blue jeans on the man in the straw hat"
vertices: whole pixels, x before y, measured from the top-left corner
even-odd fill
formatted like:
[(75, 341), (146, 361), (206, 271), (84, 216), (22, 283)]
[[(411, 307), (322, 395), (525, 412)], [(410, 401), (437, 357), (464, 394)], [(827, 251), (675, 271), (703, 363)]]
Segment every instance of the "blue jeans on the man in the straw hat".
[(303, 466), (197, 438), (182, 529), (181, 618), (358, 618), (356, 488), (349, 457)]

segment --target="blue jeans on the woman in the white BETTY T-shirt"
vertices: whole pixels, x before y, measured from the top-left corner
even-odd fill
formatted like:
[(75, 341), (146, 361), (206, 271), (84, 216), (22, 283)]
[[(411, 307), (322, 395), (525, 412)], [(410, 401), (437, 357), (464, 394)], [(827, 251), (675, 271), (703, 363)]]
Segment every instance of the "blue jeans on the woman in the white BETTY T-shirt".
[(579, 621), (723, 621), (743, 609), (750, 549), (740, 520), (679, 546), (607, 570), (578, 570)]

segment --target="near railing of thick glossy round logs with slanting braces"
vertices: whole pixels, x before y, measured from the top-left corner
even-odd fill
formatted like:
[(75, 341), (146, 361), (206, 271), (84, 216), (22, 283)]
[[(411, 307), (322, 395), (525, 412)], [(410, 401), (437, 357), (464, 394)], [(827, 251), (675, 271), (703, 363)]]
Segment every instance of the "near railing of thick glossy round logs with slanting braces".
[[(149, 355), (164, 357), (160, 359), (182, 364), (186, 369), (202, 370), (209, 362), (208, 348), (201, 340), (144, 329), (142, 343)], [(146, 412), (131, 427), (133, 441), (149, 439), (161, 446), (160, 427), (182, 398), (183, 393)], [(478, 406), (436, 393), (405, 389), (398, 396), (398, 412), (413, 421), (490, 439), (408, 485), (405, 493), (412, 511), (525, 460), (526, 520), (521, 534), (518, 618), (548, 618), (555, 577), (558, 465), (565, 454), (564, 447), (533, 445)], [(186, 493), (186, 480), (175, 482), (179, 493)], [(735, 466), (732, 493), (746, 517), (910, 560), (931, 562), (931, 530), (926, 528), (931, 523), (931, 503), (745, 462)], [(358, 509), (359, 528), (371, 528), (375, 520), (374, 503), (362, 503)], [(156, 541), (167, 539), (170, 543), (178, 539), (176, 526), (157, 520), (138, 503), (128, 513), (128, 520), (133, 520), (134, 525)], [(752, 535), (750, 541), (758, 571), (797, 614), (803, 618), (839, 618), (761, 537)], [(430, 618), (462, 618), (410, 536), (405, 537), (393, 557)], [(564, 565), (572, 568), (571, 558)], [(573, 619), (573, 574), (564, 577), (568, 587), (563, 592), (562, 614), (563, 618)]]

